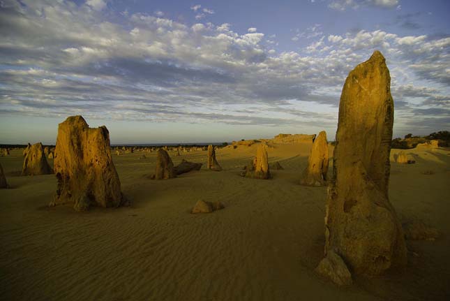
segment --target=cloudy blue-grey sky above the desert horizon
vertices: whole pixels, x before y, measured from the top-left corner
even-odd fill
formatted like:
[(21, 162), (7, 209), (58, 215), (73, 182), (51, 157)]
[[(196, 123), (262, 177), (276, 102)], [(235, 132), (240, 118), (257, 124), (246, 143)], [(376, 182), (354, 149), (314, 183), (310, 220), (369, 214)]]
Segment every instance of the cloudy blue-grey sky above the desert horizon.
[(448, 0), (0, 0), (0, 144), (82, 115), (112, 144), (336, 135), (380, 50), (394, 137), (450, 130)]

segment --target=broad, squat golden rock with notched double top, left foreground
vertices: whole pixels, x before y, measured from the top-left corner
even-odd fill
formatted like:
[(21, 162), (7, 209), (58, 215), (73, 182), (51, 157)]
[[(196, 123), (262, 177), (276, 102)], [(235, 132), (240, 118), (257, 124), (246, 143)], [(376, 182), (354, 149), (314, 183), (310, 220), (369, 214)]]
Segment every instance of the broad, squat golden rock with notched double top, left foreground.
[(91, 129), (81, 116), (68, 117), (59, 124), (54, 171), (57, 195), (50, 205), (73, 203), (75, 210), (83, 211), (122, 203), (110, 133), (105, 126)]

